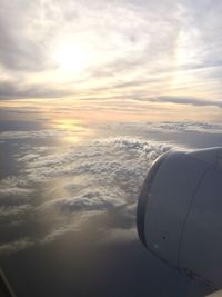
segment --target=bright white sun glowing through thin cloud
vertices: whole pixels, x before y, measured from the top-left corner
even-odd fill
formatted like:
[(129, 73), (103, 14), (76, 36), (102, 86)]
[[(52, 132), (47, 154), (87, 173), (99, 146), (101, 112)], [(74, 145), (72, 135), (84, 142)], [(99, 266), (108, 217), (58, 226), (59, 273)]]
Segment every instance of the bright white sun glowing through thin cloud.
[(90, 62), (85, 47), (74, 42), (61, 42), (54, 50), (53, 60), (62, 71), (81, 72)]

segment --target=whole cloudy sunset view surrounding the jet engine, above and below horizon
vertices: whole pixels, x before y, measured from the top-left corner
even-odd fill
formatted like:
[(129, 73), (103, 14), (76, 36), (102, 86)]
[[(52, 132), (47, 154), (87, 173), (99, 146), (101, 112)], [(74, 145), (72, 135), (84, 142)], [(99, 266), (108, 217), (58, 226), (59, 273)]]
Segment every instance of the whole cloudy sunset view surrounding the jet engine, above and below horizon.
[(170, 149), (222, 146), (220, 0), (0, 0), (0, 267), (18, 297), (202, 297), (140, 242)]

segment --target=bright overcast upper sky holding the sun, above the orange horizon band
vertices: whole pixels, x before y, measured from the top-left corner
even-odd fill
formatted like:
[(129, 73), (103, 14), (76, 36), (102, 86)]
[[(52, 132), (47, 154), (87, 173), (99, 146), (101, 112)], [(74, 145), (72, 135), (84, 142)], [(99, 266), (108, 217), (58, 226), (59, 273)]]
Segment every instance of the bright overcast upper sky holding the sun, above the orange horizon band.
[(221, 16), (220, 0), (0, 0), (0, 98), (221, 109)]

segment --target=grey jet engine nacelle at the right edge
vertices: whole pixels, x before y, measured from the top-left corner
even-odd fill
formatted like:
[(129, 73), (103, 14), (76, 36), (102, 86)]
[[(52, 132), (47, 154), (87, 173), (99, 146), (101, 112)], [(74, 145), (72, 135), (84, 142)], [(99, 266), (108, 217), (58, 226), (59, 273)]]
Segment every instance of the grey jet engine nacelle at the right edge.
[(144, 180), (137, 225), (155, 256), (221, 288), (222, 148), (161, 156)]

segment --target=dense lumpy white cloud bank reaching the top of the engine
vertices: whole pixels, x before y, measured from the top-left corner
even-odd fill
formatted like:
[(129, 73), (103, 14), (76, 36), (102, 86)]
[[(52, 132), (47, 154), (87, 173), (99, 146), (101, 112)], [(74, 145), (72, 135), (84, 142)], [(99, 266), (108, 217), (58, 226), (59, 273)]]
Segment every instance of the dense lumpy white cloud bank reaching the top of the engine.
[(84, 149), (74, 147), (40, 156), (27, 162), (23, 174), (30, 180), (88, 175), (89, 181), (100, 181), (109, 176), (110, 181), (125, 184), (133, 191), (134, 182), (144, 175), (144, 167), (147, 170), (148, 164), (168, 149), (167, 145), (130, 137), (109, 138), (93, 141)]

